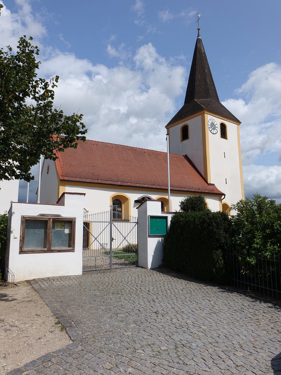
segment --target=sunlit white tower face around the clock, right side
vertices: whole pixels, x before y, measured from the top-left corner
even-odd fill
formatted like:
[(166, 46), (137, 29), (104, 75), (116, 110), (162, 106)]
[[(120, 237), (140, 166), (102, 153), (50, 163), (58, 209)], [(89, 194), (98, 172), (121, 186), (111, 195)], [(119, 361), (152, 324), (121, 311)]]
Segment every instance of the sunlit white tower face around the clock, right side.
[(210, 118), (214, 118), (218, 125), (223, 122), (227, 126), (227, 139), (220, 137), (220, 129), (217, 134), (209, 132), (211, 183), (226, 194), (227, 203), (233, 204), (242, 198), (237, 125), (208, 115), (208, 120)]

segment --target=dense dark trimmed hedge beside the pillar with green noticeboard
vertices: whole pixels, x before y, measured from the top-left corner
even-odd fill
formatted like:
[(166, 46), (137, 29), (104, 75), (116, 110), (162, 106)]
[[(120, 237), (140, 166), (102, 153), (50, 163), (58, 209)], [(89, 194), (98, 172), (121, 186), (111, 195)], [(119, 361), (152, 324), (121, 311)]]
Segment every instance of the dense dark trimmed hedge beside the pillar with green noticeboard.
[(231, 237), (232, 223), (224, 212), (175, 213), (164, 236), (163, 262), (193, 278), (227, 284)]

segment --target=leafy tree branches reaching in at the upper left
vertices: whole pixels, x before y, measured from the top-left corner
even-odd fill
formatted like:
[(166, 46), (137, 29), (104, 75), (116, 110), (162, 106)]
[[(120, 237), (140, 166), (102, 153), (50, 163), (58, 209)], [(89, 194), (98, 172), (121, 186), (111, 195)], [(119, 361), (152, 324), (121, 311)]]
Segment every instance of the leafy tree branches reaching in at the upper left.
[(16, 53), (0, 49), (0, 180), (30, 181), (40, 154), (55, 160), (86, 139), (82, 114), (67, 116), (54, 107), (58, 76), (37, 78), (39, 49), (31, 40), (21, 37)]

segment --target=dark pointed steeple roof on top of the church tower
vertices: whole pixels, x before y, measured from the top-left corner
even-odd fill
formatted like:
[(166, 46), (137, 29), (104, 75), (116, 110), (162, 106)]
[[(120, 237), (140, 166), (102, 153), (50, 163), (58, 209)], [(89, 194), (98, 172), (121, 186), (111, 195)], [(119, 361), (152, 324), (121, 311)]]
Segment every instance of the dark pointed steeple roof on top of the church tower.
[(229, 118), (230, 121), (240, 122), (218, 99), (211, 69), (198, 30), (184, 105), (167, 125), (183, 120), (185, 117), (203, 110)]

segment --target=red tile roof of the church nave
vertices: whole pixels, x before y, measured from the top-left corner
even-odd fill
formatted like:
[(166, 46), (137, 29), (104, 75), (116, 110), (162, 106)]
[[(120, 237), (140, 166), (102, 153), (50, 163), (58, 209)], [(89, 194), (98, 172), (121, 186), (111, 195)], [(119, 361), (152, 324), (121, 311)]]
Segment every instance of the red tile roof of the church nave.
[[(167, 154), (87, 140), (67, 148), (55, 161), (60, 180), (168, 189)], [(170, 189), (223, 194), (209, 186), (187, 156), (170, 154)]]

